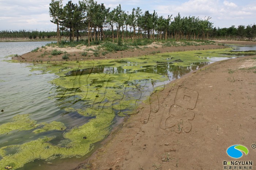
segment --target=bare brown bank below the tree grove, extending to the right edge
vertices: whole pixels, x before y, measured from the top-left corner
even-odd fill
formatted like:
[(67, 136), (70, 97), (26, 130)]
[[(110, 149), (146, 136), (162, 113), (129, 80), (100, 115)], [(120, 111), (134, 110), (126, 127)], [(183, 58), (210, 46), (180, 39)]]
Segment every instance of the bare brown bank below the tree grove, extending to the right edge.
[[(211, 50), (211, 49), (222, 49), (227, 48), (226, 46), (220, 45), (224, 44), (240, 44), (245, 45), (247, 41), (215, 41), (216, 43), (207, 44), (207, 45), (192, 45), (192, 46), (183, 46), (182, 44), (176, 46), (164, 46), (161, 43), (152, 43), (146, 46), (129, 47), (128, 50), (124, 51), (114, 51), (106, 52), (102, 49), (99, 49), (100, 45), (97, 46), (82, 46), (78, 45), (76, 47), (41, 47), (35, 49), (34, 52), (28, 52), (17, 57), (12, 57), (12, 60), (18, 62), (26, 63), (51, 63), (51, 62), (63, 62), (63, 61), (84, 61), (84, 60), (102, 60), (102, 59), (120, 59), (120, 58), (132, 58), (142, 55), (154, 55), (157, 53), (164, 52), (179, 52), (179, 51), (191, 51), (191, 50)], [(202, 43), (203, 44), (203, 43)], [(256, 45), (256, 42), (249, 42), (250, 45)], [(101, 47), (103, 48), (103, 47)], [(57, 50), (62, 54), (52, 55), (52, 51)], [(102, 52), (102, 53), (101, 53)], [(83, 55), (86, 53), (86, 55)], [(64, 56), (68, 56), (68, 59), (63, 59)]]

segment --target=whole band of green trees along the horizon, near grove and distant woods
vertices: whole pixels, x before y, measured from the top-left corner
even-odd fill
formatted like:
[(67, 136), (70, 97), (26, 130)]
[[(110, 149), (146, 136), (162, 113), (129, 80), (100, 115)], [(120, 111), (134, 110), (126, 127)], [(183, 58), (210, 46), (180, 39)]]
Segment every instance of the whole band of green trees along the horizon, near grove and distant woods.
[(72, 1), (63, 7), (62, 0), (52, 0), (49, 7), (51, 22), (57, 25), (56, 31), (0, 31), (0, 39), (49, 39), (57, 41), (69, 38), (69, 41), (87, 39), (91, 41), (114, 39), (155, 39), (198, 40), (229, 39), (255, 40), (256, 25), (239, 25), (237, 28), (213, 28), (210, 17), (181, 17), (180, 13), (167, 18), (158, 16), (137, 7), (132, 12), (125, 12), (119, 4), (110, 11), (104, 4), (94, 0)]

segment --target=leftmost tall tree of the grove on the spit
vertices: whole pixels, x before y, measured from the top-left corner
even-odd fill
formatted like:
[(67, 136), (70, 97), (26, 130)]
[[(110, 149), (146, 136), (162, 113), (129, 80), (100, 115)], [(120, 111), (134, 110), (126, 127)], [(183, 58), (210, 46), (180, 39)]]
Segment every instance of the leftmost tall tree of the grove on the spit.
[(59, 25), (62, 19), (62, 12), (62, 0), (52, 0), (49, 7), (49, 13), (50, 17), (52, 17), (51, 22), (57, 24), (57, 44), (61, 41)]

